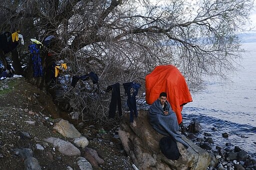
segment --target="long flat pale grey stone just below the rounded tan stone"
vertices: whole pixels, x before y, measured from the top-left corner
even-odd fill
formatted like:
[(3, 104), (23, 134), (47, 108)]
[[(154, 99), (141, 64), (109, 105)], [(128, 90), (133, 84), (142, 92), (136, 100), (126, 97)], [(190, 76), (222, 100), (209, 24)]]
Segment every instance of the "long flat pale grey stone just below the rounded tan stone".
[(44, 139), (45, 142), (50, 143), (55, 147), (58, 152), (61, 154), (67, 155), (67, 156), (79, 156), (80, 155), (80, 150), (78, 150), (73, 144), (63, 141), (58, 138), (47, 138)]

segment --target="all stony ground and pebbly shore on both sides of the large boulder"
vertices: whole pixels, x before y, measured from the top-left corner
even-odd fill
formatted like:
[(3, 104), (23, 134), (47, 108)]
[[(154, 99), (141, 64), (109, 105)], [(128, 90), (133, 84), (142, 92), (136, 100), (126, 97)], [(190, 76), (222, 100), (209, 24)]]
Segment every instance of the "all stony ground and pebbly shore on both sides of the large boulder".
[[(78, 130), (85, 140), (76, 143), (81, 137), (63, 135), (55, 128), (61, 122), (59, 118), (75, 126), (71, 135)], [(0, 80), (0, 170), (133, 170), (118, 138), (118, 129), (118, 121), (71, 121), (67, 113), (58, 111), (49, 95), (22, 77)], [(212, 148), (211, 134), (203, 133), (198, 123), (181, 126), (180, 130), (211, 153), (209, 170), (256, 170), (256, 159), (233, 144)], [(65, 146), (67, 153), (61, 150)]]

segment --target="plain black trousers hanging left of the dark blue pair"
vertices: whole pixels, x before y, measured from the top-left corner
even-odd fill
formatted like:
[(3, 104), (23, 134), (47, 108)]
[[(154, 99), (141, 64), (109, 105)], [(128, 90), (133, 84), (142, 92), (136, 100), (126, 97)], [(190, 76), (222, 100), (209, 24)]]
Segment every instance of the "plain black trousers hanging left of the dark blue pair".
[(117, 107), (118, 107), (119, 116), (122, 115), (121, 97), (120, 97), (120, 84), (115, 83), (113, 85), (107, 86), (106, 92), (109, 92), (111, 90), (112, 90), (112, 94), (111, 94), (111, 101), (110, 101), (110, 104), (109, 104), (108, 118), (114, 118), (115, 111), (116, 111), (116, 104), (117, 104)]

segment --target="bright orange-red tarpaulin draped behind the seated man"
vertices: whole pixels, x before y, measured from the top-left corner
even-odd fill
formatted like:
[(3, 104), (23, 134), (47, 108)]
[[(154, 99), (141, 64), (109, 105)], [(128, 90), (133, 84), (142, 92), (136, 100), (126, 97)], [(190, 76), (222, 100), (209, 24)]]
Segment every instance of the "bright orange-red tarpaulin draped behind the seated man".
[(167, 93), (167, 101), (176, 113), (178, 124), (182, 122), (182, 106), (192, 102), (185, 78), (173, 65), (160, 65), (145, 77), (146, 103), (151, 105), (161, 92)]

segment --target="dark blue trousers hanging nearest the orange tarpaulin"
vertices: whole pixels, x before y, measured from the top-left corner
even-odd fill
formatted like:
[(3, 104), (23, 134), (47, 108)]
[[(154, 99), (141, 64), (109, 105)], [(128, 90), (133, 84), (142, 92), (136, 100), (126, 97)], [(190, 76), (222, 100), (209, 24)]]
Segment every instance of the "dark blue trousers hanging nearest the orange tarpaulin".
[(140, 84), (135, 82), (123, 83), (125, 94), (127, 95), (127, 105), (130, 110), (130, 122), (133, 122), (133, 116), (138, 116), (136, 107), (136, 95), (138, 89), (141, 87)]

